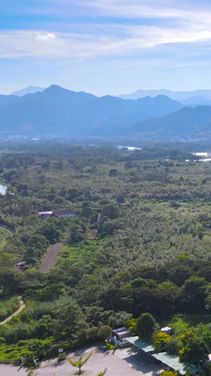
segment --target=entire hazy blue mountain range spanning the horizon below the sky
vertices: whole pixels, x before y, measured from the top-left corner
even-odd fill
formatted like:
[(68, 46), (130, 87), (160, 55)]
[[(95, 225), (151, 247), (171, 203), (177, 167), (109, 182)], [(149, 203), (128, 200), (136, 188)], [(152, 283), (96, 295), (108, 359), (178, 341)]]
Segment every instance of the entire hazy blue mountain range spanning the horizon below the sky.
[(51, 85), (22, 97), (0, 95), (0, 136), (211, 140), (211, 102), (203, 98), (195, 97), (195, 102), (203, 103), (200, 105), (166, 95), (126, 100)]

